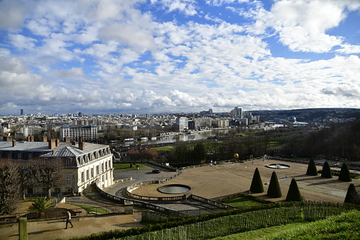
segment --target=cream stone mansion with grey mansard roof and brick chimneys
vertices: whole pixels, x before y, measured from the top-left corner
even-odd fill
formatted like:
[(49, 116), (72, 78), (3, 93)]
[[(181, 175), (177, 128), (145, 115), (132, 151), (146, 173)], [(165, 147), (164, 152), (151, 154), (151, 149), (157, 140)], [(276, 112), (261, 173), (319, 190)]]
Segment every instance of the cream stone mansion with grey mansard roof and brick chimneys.
[[(28, 139), (30, 139), (28, 137)], [(59, 142), (50, 139), (48, 142), (0, 142), (1, 159), (30, 160), (36, 157), (62, 159), (64, 164), (64, 184), (51, 190), (52, 193), (81, 193), (91, 183), (100, 180), (100, 187), (107, 188), (114, 183), (112, 153), (108, 145), (87, 142)], [(30, 139), (31, 140), (31, 139)], [(39, 187), (29, 188), (28, 194), (45, 193)]]

